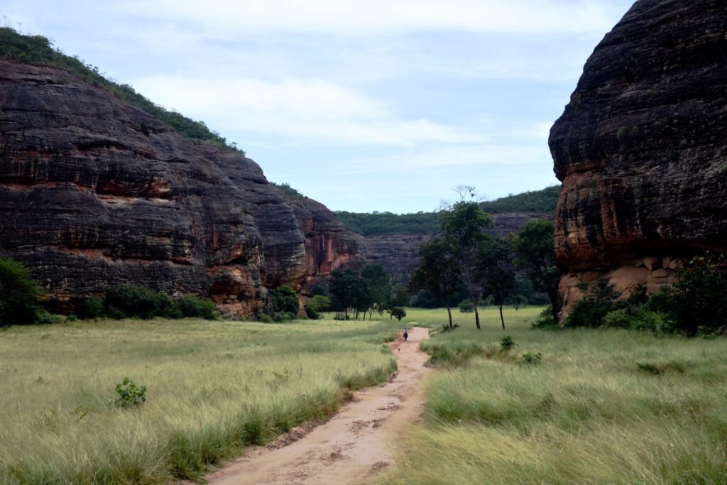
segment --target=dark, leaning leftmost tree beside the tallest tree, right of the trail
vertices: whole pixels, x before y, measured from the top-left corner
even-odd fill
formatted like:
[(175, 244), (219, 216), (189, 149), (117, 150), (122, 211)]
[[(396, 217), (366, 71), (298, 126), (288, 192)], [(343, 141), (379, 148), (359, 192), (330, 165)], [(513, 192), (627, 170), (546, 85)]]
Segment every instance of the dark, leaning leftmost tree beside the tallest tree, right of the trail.
[(454, 256), (450, 244), (443, 238), (435, 238), (422, 244), (419, 255), (422, 257), (422, 262), (411, 276), (409, 288), (412, 291), (425, 289), (435, 297), (443, 299), (449, 315), (449, 327), (452, 328), (454, 325), (449, 300), (462, 286), (457, 257)]

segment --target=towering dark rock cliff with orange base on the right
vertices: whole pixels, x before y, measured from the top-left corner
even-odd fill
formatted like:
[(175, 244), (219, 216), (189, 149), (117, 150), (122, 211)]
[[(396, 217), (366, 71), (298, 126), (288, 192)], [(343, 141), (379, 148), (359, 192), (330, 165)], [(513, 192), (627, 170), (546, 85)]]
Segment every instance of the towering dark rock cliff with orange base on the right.
[(727, 249), (727, 2), (640, 0), (585, 65), (550, 132), (555, 252), (577, 284), (671, 284)]

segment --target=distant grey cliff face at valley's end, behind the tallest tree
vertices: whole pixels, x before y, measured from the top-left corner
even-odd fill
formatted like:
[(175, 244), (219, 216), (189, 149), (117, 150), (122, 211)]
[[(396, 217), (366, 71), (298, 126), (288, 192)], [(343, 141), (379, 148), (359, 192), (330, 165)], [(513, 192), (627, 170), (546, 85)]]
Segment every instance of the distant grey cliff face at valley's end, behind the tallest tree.
[[(553, 217), (545, 212), (505, 212), (493, 214), (494, 228), (488, 233), (507, 236), (516, 233), (529, 220)], [(434, 233), (371, 234), (364, 238), (366, 261), (379, 264), (395, 279), (407, 280), (419, 265), (419, 247)]]

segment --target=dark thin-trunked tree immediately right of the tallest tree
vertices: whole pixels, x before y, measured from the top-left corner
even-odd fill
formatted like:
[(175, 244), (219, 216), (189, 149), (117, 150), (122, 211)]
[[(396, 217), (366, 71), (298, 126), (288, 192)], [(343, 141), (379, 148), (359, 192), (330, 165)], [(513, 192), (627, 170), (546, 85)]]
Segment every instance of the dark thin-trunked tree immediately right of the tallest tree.
[(482, 282), (483, 294), (490, 295), (499, 309), (500, 322), (505, 330), (502, 306), (515, 290), (515, 265), (510, 239), (487, 237), (481, 241), (477, 249), (477, 275)]

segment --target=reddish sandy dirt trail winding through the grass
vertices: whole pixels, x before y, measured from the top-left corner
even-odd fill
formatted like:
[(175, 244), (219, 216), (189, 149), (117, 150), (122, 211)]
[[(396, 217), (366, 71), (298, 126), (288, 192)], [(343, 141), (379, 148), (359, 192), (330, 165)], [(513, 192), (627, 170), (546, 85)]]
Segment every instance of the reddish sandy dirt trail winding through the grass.
[(401, 337), (393, 342), (398, 373), (391, 382), (354, 393), (354, 401), (300, 440), (278, 449), (249, 449), (245, 457), (210, 473), (206, 480), (211, 485), (369, 481), (391, 464), (398, 436), (422, 414), (422, 381), (429, 369), (419, 342), (427, 338), (427, 329), (415, 327), (408, 342)]

